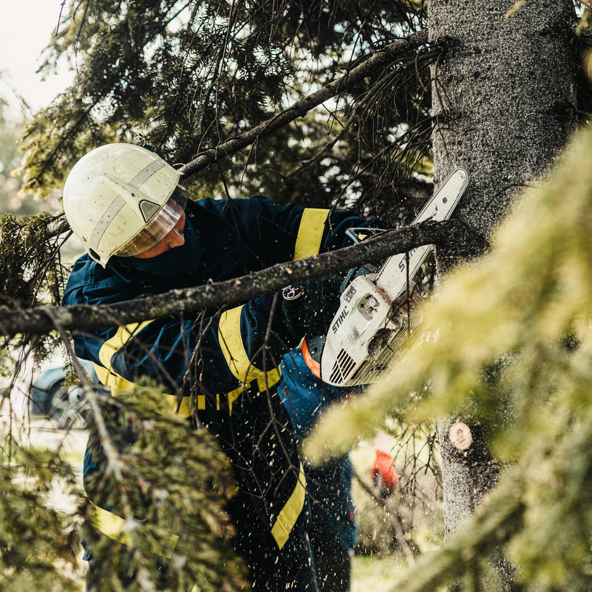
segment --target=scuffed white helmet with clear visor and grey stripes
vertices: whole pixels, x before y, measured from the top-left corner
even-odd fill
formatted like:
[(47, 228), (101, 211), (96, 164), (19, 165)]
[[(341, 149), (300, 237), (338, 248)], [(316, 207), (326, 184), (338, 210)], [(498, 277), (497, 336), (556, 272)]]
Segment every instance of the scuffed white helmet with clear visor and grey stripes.
[(146, 148), (99, 146), (67, 176), (66, 218), (89, 255), (105, 267), (112, 255), (131, 257), (150, 249), (175, 226), (187, 201), (180, 177)]

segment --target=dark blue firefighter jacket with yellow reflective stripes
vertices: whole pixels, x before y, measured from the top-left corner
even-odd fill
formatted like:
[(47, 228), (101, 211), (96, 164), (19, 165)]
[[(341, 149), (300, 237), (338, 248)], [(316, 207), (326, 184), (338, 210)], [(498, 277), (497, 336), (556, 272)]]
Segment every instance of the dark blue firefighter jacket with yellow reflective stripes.
[[(375, 222), (348, 211), (329, 214), (329, 210), (303, 210), (294, 204), (278, 207), (262, 196), (189, 202), (186, 214), (201, 246), (197, 271), (165, 278), (139, 272), (128, 259), (114, 258), (103, 269), (84, 255), (70, 274), (63, 304), (119, 303), (222, 281), (345, 246), (349, 244), (346, 229)], [(177, 248), (182, 253), (182, 247)], [(289, 426), (289, 417), (276, 397), (271, 403), (285, 452), (279, 452), (276, 431), (269, 428), (266, 389), (281, 379), (279, 363), (286, 346), (297, 345), (281, 314), (276, 314), (268, 348), (263, 350), (270, 304), (270, 297), (253, 298), (222, 313), (198, 311), (73, 337), (76, 355), (95, 363), (99, 380), (111, 387), (113, 395), (129, 390), (140, 376), (161, 382), (170, 393), (163, 395), (163, 411), (176, 409), (175, 395), (191, 372), (198, 386), (201, 423), (218, 436), (236, 466), (241, 487), (252, 495), (256, 513), (281, 549), (305, 506), (305, 477), (295, 437), (288, 435), (291, 430), (283, 430)], [(188, 368), (198, 345), (199, 353)], [(188, 403), (182, 404), (179, 413), (191, 415)], [(255, 434), (260, 437), (258, 446), (253, 446)], [(104, 462), (100, 448), (91, 434), (85, 486), (99, 506), (96, 526), (114, 532), (117, 517), (100, 510), (100, 496), (92, 487), (96, 468)]]

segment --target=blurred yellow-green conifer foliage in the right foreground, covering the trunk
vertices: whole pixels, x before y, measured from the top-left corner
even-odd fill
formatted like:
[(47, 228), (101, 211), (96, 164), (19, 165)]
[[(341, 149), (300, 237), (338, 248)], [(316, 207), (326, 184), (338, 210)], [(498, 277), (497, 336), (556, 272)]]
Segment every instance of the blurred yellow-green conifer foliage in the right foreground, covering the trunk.
[(433, 591), (462, 574), (465, 590), (481, 589), (484, 558), (501, 543), (520, 589), (590, 590), (591, 153), (588, 127), (519, 200), (491, 252), (449, 276), (426, 307), (439, 342), (412, 350), (390, 381), (327, 413), (307, 442), (311, 458), (345, 451), (395, 412), (486, 426), (506, 471), (399, 590)]

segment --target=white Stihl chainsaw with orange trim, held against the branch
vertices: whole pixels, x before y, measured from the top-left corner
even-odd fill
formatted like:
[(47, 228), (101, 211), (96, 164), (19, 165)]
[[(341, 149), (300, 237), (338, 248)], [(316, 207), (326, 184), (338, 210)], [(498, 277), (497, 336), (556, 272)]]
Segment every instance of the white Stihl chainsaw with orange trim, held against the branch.
[[(446, 178), (424, 205), (413, 224), (448, 220), (469, 181), (464, 168)], [(354, 228), (347, 234), (359, 243), (384, 229)], [(304, 361), (314, 375), (336, 387), (371, 384), (401, 355), (403, 346), (422, 321), (425, 295), (419, 281), (421, 267), (432, 251), (429, 244), (393, 255), (381, 265), (350, 269), (340, 287), (339, 310), (323, 336), (306, 336)], [(418, 340), (428, 340), (420, 336)], [(417, 345), (417, 344), (416, 344)]]

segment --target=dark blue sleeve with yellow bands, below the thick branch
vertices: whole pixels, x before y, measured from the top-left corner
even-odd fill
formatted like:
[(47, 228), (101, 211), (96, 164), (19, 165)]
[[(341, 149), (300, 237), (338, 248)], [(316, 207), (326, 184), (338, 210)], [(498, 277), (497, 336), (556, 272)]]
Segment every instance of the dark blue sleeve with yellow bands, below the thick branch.
[[(200, 374), (202, 387), (210, 394), (226, 394), (255, 379), (265, 388), (265, 374), (277, 368), (286, 345), (296, 345), (278, 307), (264, 361), (262, 346), (272, 300), (272, 296), (253, 298), (205, 318), (147, 321), (132, 330), (133, 339), (123, 347), (119, 338), (112, 345), (102, 345), (101, 362), (130, 381), (149, 375), (175, 388), (182, 384), (189, 359), (199, 346), (191, 370)], [(125, 339), (128, 332), (120, 328), (118, 333)]]

